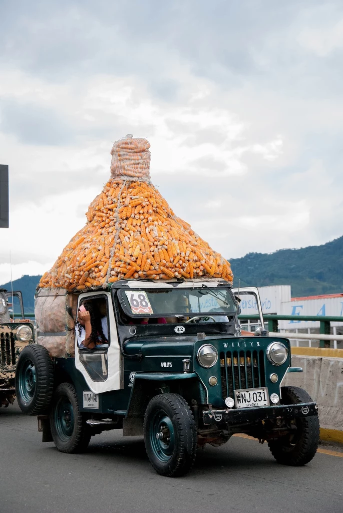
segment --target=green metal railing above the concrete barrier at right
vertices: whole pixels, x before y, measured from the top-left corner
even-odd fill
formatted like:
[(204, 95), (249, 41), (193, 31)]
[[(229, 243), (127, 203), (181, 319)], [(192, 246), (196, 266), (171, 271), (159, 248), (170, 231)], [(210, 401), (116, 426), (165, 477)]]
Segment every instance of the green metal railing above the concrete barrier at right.
[[(264, 314), (263, 316), (265, 321), (268, 321), (268, 330), (277, 332), (278, 331), (278, 322), (279, 321), (316, 321), (319, 322), (319, 333), (321, 335), (330, 335), (331, 331), (331, 323), (332, 322), (341, 322), (343, 323), (343, 317), (330, 317), (327, 315), (278, 315), (274, 313)], [(238, 315), (238, 319), (240, 320), (250, 320), (250, 321), (259, 321), (259, 315), (251, 315), (251, 314), (240, 314)], [(299, 333), (299, 339), (300, 337)], [(319, 347), (330, 347), (330, 341), (328, 340), (320, 340)]]

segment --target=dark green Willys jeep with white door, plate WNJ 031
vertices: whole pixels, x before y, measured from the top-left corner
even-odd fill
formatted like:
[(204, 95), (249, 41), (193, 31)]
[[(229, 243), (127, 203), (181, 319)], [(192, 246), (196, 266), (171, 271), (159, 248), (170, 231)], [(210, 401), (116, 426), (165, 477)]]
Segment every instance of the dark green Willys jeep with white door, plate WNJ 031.
[(25, 348), (18, 403), (38, 416), (43, 442), (62, 452), (86, 449), (104, 430), (144, 436), (163, 476), (185, 475), (198, 447), (234, 433), (266, 440), (279, 463), (304, 465), (318, 446), (317, 406), (306, 391), (281, 386), (286, 372), (302, 369), (291, 367), (287, 338), (268, 336), (257, 289), (242, 294), (255, 296), (255, 336), (241, 335), (237, 290), (220, 280), (122, 280), (80, 293), (78, 307), (106, 301), (108, 345), (87, 349), (75, 340), (74, 357), (54, 359), (43, 346)]

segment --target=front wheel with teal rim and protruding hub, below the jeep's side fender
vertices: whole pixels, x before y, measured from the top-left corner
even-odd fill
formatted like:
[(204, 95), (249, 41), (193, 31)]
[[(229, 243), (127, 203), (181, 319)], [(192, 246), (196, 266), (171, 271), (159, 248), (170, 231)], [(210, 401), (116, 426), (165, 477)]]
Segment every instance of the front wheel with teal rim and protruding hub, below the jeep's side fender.
[[(161, 438), (156, 437), (159, 434)], [(184, 476), (192, 468), (197, 432), (183, 397), (164, 393), (151, 399), (144, 417), (144, 441), (150, 463), (161, 476)]]

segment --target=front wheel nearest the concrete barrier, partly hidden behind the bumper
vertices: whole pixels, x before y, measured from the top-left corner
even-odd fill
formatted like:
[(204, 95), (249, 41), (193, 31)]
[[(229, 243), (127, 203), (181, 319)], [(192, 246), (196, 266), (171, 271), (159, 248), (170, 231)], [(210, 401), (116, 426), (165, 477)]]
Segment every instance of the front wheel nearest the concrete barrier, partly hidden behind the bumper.
[[(312, 402), (311, 396), (296, 386), (281, 387), (281, 404)], [(285, 437), (268, 442), (269, 449), (278, 463), (301, 466), (309, 463), (317, 452), (319, 444), (319, 419), (301, 417), (295, 420), (297, 430)]]

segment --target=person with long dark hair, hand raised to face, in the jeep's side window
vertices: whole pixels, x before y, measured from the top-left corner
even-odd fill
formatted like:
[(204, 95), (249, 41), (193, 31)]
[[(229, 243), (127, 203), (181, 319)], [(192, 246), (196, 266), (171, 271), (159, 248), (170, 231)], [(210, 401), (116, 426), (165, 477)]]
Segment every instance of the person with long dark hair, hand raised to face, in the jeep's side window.
[(108, 325), (106, 301), (85, 301), (77, 313), (75, 325), (77, 345), (82, 349), (108, 347)]

